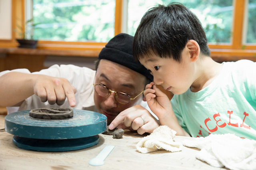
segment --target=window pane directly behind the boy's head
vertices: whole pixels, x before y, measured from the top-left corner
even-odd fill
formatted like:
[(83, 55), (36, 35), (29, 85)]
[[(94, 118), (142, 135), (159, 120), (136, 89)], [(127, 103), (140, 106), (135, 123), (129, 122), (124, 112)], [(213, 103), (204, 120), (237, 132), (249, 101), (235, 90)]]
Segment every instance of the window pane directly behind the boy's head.
[(189, 8), (200, 20), (209, 43), (230, 43), (233, 6), (232, 0), (129, 0), (128, 34), (134, 35), (143, 14), (157, 4), (168, 5), (180, 2)]

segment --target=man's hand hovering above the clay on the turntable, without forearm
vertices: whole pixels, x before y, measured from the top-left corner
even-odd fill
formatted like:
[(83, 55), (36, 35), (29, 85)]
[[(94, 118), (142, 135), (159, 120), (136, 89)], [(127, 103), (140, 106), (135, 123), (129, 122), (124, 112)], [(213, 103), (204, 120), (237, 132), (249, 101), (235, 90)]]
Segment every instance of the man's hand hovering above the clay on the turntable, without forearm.
[(71, 107), (76, 106), (76, 89), (67, 79), (47, 75), (35, 75), (33, 90), (42, 102), (48, 101), (50, 105), (63, 105), (66, 97)]

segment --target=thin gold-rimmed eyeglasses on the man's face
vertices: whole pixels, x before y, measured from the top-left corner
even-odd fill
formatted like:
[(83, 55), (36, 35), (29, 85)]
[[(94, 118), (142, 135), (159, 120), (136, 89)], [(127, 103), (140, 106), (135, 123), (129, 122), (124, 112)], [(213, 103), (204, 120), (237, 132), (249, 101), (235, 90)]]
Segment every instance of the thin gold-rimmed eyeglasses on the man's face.
[(121, 91), (112, 91), (110, 89), (108, 89), (107, 86), (103, 85), (103, 84), (94, 84), (94, 89), (96, 91), (96, 93), (102, 97), (107, 97), (108, 95), (110, 95), (110, 93), (115, 93), (115, 98), (116, 101), (118, 101), (118, 103), (121, 103), (123, 105), (126, 105), (128, 103), (130, 103), (131, 100), (136, 99), (139, 95), (141, 95), (145, 90), (143, 90), (142, 92), (140, 92), (140, 94), (138, 94), (136, 97), (131, 98), (130, 95), (128, 95), (127, 93), (121, 92)]

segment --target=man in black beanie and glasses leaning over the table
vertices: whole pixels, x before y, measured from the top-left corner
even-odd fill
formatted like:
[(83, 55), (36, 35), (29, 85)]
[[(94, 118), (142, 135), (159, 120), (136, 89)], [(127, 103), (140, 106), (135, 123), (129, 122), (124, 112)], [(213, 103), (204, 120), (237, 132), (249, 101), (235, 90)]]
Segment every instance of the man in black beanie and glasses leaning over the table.
[(7, 107), (8, 113), (42, 107), (97, 111), (106, 115), (108, 125), (129, 108), (111, 127), (152, 132), (159, 125), (144, 109), (143, 91), (153, 77), (134, 61), (132, 42), (128, 34), (112, 38), (98, 56), (96, 71), (75, 65), (53, 65), (34, 73), (3, 71), (0, 106)]

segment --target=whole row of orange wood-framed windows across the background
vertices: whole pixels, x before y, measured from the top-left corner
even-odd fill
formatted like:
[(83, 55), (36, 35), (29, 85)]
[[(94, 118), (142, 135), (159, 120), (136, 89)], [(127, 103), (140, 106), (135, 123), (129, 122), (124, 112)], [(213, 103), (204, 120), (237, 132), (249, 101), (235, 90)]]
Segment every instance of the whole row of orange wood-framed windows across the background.
[[(213, 55), (256, 56), (256, 0), (12, 0), (12, 23), (34, 16), (41, 49), (100, 51), (116, 34), (134, 35), (148, 9), (173, 1), (198, 16)], [(12, 33), (9, 47), (16, 37)]]

